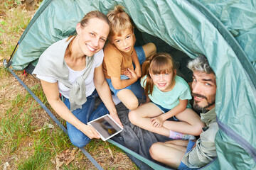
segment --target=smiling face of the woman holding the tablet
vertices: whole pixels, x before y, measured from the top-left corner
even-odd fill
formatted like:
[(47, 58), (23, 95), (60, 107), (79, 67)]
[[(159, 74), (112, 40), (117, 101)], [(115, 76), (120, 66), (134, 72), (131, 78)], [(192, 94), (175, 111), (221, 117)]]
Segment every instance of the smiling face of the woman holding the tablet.
[(110, 26), (99, 18), (91, 18), (85, 27), (78, 23), (76, 30), (78, 50), (82, 53), (81, 55), (92, 56), (102, 50), (110, 32)]

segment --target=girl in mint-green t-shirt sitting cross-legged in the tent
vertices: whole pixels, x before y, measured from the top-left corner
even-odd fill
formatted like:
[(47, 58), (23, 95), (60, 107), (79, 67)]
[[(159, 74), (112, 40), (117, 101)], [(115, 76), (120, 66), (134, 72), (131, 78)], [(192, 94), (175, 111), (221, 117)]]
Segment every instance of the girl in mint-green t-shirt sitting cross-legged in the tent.
[[(200, 135), (204, 124), (188, 103), (191, 91), (176, 75), (172, 57), (158, 53), (144, 62), (142, 71), (141, 84), (147, 99), (129, 113), (131, 123), (175, 140), (194, 140), (193, 135)], [(180, 121), (168, 120), (171, 117)]]

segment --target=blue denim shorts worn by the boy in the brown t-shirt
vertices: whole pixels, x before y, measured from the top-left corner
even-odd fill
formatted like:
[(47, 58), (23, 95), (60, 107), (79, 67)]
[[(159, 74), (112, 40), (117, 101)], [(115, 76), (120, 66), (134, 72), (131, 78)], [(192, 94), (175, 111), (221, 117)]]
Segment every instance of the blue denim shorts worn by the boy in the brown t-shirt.
[[(145, 52), (144, 52), (142, 46), (134, 47), (134, 50), (137, 53), (137, 56), (138, 56), (138, 59), (139, 59), (139, 64), (142, 65), (142, 63), (146, 60), (146, 55), (145, 55)], [(134, 65), (134, 68), (135, 68), (135, 65)], [(120, 79), (129, 79), (129, 77), (127, 77), (125, 75), (121, 75)], [(123, 89), (119, 89), (119, 90), (114, 89), (114, 87), (112, 85), (112, 82), (111, 82), (111, 79), (106, 79), (106, 81), (107, 81), (107, 84), (109, 84), (109, 86), (110, 86), (110, 90), (114, 93), (114, 96), (117, 96), (117, 93), (120, 90), (123, 90)], [(142, 87), (140, 85), (140, 82), (139, 82), (139, 79), (134, 84), (132, 84), (130, 86), (127, 86), (124, 89), (131, 90), (135, 94), (135, 96), (137, 96), (137, 98), (144, 98), (144, 89), (142, 89)]]

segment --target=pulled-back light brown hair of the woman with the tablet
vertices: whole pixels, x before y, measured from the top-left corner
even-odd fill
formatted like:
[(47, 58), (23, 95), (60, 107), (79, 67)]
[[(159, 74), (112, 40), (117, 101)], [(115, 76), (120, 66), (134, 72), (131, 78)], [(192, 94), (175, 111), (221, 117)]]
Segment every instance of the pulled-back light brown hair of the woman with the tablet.
[[(110, 26), (110, 21), (108, 20), (107, 16), (100, 12), (100, 11), (90, 11), (88, 13), (85, 14), (85, 16), (82, 18), (82, 20), (79, 22), (81, 23), (82, 28), (85, 28), (87, 26), (87, 24), (89, 23), (90, 19), (92, 18), (98, 18), (102, 21), (105, 21), (107, 23), (107, 25)], [(70, 38), (75, 37), (76, 35), (70, 35), (67, 42), (70, 40)], [(73, 38), (74, 40), (75, 38)], [(71, 45), (73, 43), (73, 40), (70, 41), (68, 47), (67, 47), (67, 54), (71, 55), (72, 54), (72, 50), (71, 50)]]

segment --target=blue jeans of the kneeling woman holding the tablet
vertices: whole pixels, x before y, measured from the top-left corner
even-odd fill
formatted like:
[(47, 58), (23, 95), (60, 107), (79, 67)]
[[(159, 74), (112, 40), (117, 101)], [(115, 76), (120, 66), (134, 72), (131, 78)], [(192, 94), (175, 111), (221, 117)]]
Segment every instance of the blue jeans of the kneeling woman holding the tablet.
[[(73, 111), (73, 115), (75, 115), (78, 120), (80, 120), (82, 123), (87, 124), (87, 122), (90, 122), (91, 120), (95, 120), (96, 118), (100, 118), (102, 115), (106, 115), (109, 113), (107, 111), (106, 106), (104, 103), (100, 103), (100, 105), (95, 109), (95, 98), (99, 96), (97, 94), (97, 91), (93, 91), (90, 96), (87, 96), (87, 101), (82, 105), (82, 108), (78, 108), (75, 111)], [(70, 101), (68, 98), (65, 98), (65, 106), (70, 109)], [(71, 125), (67, 122), (67, 129), (68, 129), (68, 136), (70, 137), (70, 141), (75, 145), (76, 147), (85, 147), (90, 142), (90, 138), (87, 137), (83, 132), (75, 128), (75, 126)]]

